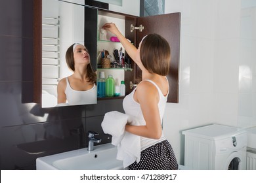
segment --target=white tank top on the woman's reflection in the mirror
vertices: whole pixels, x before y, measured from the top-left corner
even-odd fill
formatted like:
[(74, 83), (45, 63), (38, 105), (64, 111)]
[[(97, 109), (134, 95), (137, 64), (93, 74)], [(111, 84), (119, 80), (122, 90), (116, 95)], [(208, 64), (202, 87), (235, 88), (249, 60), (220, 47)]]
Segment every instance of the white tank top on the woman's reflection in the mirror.
[(68, 82), (68, 77), (66, 77), (66, 83), (67, 87), (65, 94), (70, 105), (85, 105), (97, 102), (97, 88), (95, 84), (93, 84), (93, 88), (90, 90), (77, 91), (71, 88), (70, 82)]

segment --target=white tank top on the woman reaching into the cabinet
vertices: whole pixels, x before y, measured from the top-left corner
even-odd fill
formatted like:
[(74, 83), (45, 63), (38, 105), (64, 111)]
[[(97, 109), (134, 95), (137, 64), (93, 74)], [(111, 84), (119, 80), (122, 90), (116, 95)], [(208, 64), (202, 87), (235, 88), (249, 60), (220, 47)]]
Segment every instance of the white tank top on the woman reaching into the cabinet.
[[(167, 78), (166, 78), (167, 79)], [(154, 84), (154, 86), (156, 86), (156, 88), (158, 89), (158, 93), (160, 96), (159, 102), (158, 102), (158, 108), (160, 111), (160, 118), (161, 118), (161, 125), (163, 124), (163, 113), (165, 111), (165, 105), (167, 102), (167, 97), (169, 94), (169, 89), (168, 89), (168, 93), (166, 96), (163, 95), (163, 93), (161, 92), (160, 88), (158, 87), (158, 85), (153, 82), (152, 80), (143, 80), (143, 81), (148, 81), (151, 82), (152, 84)], [(140, 108), (140, 104), (137, 103), (137, 101), (135, 101), (133, 99), (133, 95), (135, 93), (136, 88), (133, 90), (133, 92), (131, 92), (129, 95), (127, 95), (124, 99), (123, 99), (123, 109), (125, 110), (125, 114), (131, 115), (133, 118), (136, 118), (139, 121), (139, 125), (146, 125), (146, 122), (144, 120), (143, 114), (142, 114), (142, 110)], [(140, 146), (141, 146), (141, 150), (144, 150), (158, 142), (164, 141), (165, 137), (163, 135), (163, 133), (161, 134), (160, 139), (149, 139), (146, 137), (140, 137)]]

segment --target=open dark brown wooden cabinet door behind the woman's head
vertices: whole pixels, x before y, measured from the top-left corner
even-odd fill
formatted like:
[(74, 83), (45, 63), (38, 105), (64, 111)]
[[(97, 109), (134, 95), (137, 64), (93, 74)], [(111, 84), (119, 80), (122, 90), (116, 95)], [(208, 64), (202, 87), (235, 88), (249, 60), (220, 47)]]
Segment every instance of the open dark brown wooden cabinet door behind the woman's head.
[[(170, 86), (167, 102), (178, 103), (181, 13), (140, 17), (137, 18), (137, 25), (145, 27), (142, 32), (137, 31), (137, 44), (149, 33), (158, 33), (169, 42), (171, 47), (171, 64), (169, 74), (167, 75)], [(135, 70), (136, 81), (139, 82), (141, 80), (141, 71), (139, 67), (136, 67)]]

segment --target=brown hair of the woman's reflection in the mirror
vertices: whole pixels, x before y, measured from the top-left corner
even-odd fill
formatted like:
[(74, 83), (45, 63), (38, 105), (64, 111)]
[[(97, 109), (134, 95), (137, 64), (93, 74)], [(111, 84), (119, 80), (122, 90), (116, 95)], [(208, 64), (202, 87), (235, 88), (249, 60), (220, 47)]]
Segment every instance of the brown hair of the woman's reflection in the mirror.
[[(74, 43), (75, 44), (75, 43)], [(75, 59), (74, 59), (74, 52), (73, 52), (73, 46), (74, 44), (72, 44), (67, 52), (66, 52), (66, 62), (68, 67), (72, 70), (75, 71)], [(96, 84), (96, 73), (95, 71), (93, 71), (93, 67), (91, 67), (91, 61), (90, 63), (87, 65), (87, 77), (88, 77), (88, 81), (91, 82), (91, 84), (95, 83)]]

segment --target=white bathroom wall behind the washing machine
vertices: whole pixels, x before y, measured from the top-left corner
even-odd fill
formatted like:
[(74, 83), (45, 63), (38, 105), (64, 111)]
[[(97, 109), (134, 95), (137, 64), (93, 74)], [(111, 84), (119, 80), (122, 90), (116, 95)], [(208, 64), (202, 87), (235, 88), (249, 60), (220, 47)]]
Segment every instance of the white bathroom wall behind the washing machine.
[(181, 164), (182, 130), (256, 125), (255, 7), (248, 0), (165, 0), (165, 13), (181, 12), (179, 103), (167, 104), (163, 122)]

